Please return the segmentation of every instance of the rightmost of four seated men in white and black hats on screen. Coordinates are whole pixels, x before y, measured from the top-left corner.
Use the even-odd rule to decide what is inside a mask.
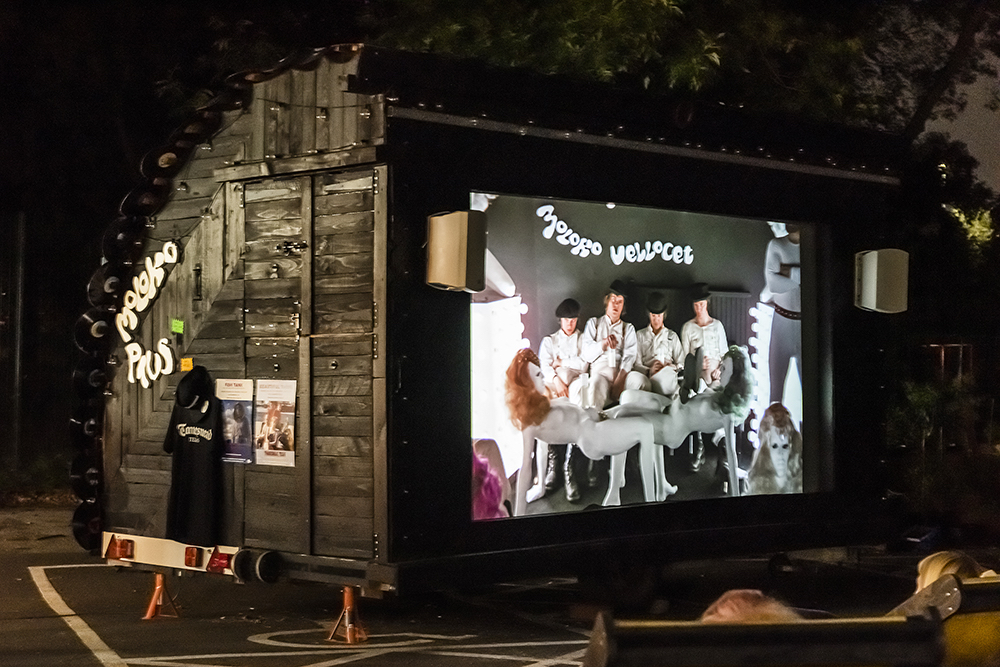
[[[684,383],[681,400],[686,401],[693,388],[698,393],[719,386],[722,357],[729,349],[726,328],[722,322],[708,312],[708,302],[712,294],[705,283],[697,283],[691,288],[691,308],[694,317],[681,327],[681,345],[684,348]],[[701,433],[691,435],[694,453],[691,471],[701,470],[705,462],[705,441]]]

